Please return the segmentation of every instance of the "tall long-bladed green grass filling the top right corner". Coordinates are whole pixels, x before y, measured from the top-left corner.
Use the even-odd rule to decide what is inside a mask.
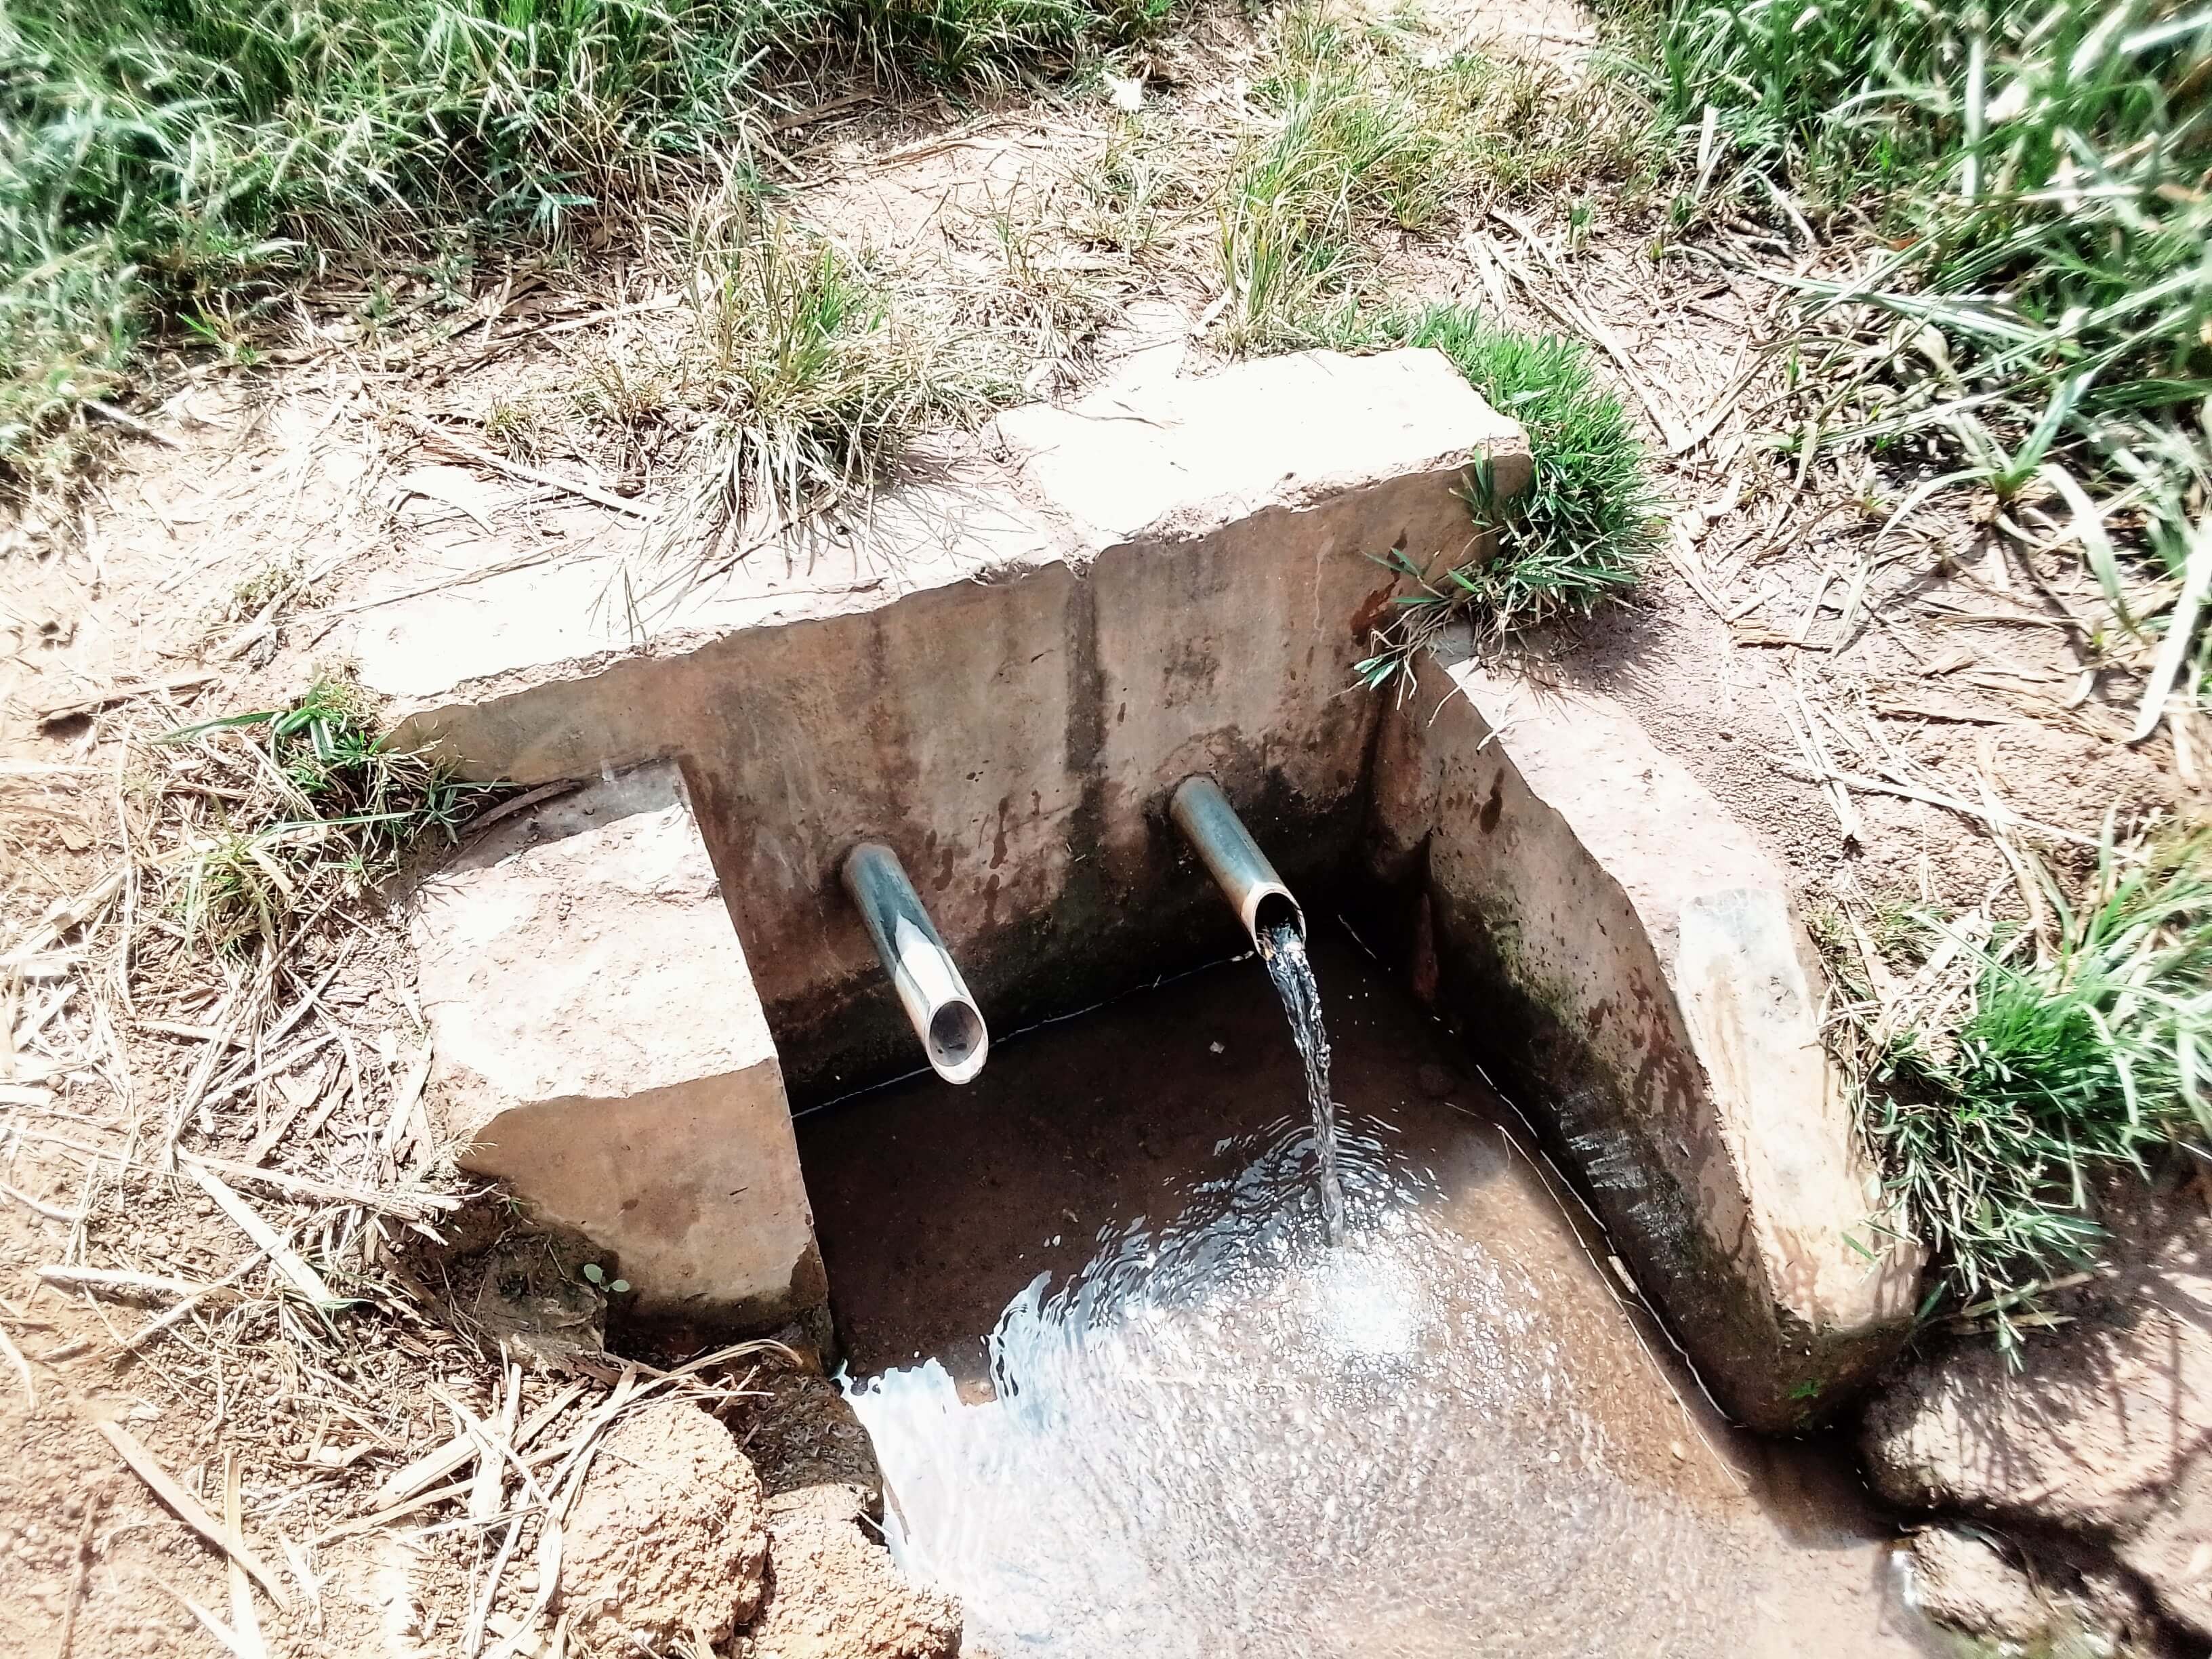
[[[2154,633],[2117,560],[2212,560],[2212,11],[1683,0],[1626,29],[1712,199],[1878,239],[1801,283],[1840,336],[1809,365],[1816,440],[1933,440],[1944,487],[2042,498]]]

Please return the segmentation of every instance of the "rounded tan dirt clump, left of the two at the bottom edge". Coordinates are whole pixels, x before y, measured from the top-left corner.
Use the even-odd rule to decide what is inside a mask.
[[[706,1411],[670,1400],[606,1436],[562,1540],[584,1652],[721,1644],[761,1606],[761,1480]]]

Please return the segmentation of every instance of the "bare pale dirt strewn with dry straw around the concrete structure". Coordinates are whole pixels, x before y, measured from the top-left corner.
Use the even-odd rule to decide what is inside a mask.
[[[1506,22],[1436,27],[1559,73],[1590,40],[1559,7]],[[1197,374],[1219,356],[1208,188],[1259,51],[1210,13],[1121,64],[1137,113],[1110,84],[834,93],[772,135],[770,173],[902,292],[1026,341],[1033,396]],[[1159,161],[1137,208],[1095,188],[1115,146]],[[2088,659],[2104,602],[2073,551],[1960,513],[1885,533],[1922,456],[1869,473],[1765,442],[1801,403],[1761,272],[1849,250],[1721,221],[1655,263],[1652,239],[1641,208],[1577,226],[1473,181],[1376,248],[1400,294],[1590,338],[1657,458],[1666,562],[1533,666],[1624,697],[1814,911],[2024,905],[2011,841],[2086,858],[2108,810],[2201,814],[2212,732],[2177,708],[2124,741],[2139,672]],[[633,372],[688,319],[650,237],[467,292],[411,276],[389,310],[316,292],[261,361],[173,365],[80,502],[0,515],[7,1652],[553,1652],[520,1469],[575,1471],[630,1400],[734,1380],[502,1363],[418,1254],[460,1186],[400,931],[365,905],[283,960],[195,958],[161,896],[166,803],[195,785],[146,748],[296,695],[378,602],[641,546],[690,416]]]

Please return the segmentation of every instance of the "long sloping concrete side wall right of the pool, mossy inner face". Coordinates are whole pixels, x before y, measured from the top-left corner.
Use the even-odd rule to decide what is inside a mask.
[[[1619,706],[1425,661],[1376,754],[1416,982],[1548,1119],[1745,1422],[1818,1422],[1905,1340],[1920,1256],[1820,1046],[1781,867]]]

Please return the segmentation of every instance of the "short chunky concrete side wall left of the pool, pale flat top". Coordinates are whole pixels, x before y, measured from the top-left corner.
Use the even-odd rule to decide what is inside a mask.
[[[675,768],[518,814],[409,931],[465,1170],[606,1250],[641,1316],[821,1305],[783,1071]]]

